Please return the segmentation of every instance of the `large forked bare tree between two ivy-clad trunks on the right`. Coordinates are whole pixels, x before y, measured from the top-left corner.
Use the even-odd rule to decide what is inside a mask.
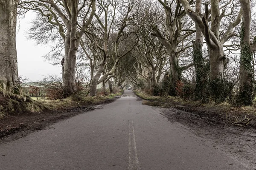
[[[226,32],[220,37],[221,19],[225,15],[224,8],[232,2],[231,0],[221,7],[219,5],[219,0],[211,0],[211,9],[209,10],[208,4],[206,3],[205,14],[203,16],[195,13],[187,0],[180,0],[180,2],[183,4],[186,13],[192,20],[194,20],[204,34],[210,59],[209,77],[211,94],[215,102],[222,102],[225,99],[224,91],[222,90],[224,86],[224,66],[228,61],[227,56],[224,53],[223,45],[230,39],[230,37],[234,36],[233,29],[241,22],[242,11],[240,9],[236,20],[230,22]],[[220,13],[220,9],[222,9],[222,13]],[[209,14],[211,14],[210,18]],[[231,10],[231,14],[233,14],[233,10]],[[208,26],[209,20],[211,21],[210,28]]]

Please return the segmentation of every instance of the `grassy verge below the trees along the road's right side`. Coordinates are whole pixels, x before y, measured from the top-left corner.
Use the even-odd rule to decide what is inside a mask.
[[[198,114],[217,114],[222,119],[224,118],[227,123],[239,126],[247,126],[250,124],[253,127],[256,127],[256,108],[253,106],[235,107],[227,102],[223,102],[218,105],[214,104],[213,102],[202,104],[200,101],[183,100],[180,97],[160,97],[151,96],[143,91],[134,92],[142,99],[152,102],[162,102],[169,107]]]

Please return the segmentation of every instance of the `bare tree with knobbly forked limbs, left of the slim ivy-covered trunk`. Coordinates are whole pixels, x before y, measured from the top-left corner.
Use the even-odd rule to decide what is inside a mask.
[[[179,53],[184,50],[179,50],[179,44],[183,42],[187,37],[193,34],[195,31],[191,28],[183,29],[184,17],[186,12],[181,9],[179,1],[168,1],[158,0],[158,2],[163,6],[166,13],[166,28],[168,31],[168,36],[165,38],[156,25],[152,26],[154,33],[151,35],[156,36],[166,47],[169,53],[169,62],[170,62],[170,75],[172,82],[171,94],[176,95],[175,86],[177,81],[181,79],[181,72],[183,68],[180,68],[178,63]],[[187,2],[188,3],[188,2]],[[192,3],[192,1],[190,2]],[[189,25],[189,23],[187,24]],[[188,47],[185,47],[188,48]]]

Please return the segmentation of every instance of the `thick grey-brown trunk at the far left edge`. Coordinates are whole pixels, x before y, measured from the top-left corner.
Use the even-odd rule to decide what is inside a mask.
[[[19,87],[16,19],[19,0],[0,0],[0,88]],[[18,91],[14,91],[18,93]]]

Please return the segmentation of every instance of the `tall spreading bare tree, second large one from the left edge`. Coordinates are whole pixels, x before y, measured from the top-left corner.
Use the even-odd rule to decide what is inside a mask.
[[[64,96],[70,96],[75,92],[76,52],[81,37],[95,14],[96,0],[90,0],[89,4],[87,0],[23,0],[20,6],[24,10],[37,11],[47,18],[47,24],[58,29],[58,34],[64,41],[65,55],[61,61]],[[51,29],[49,31],[51,36]],[[39,38],[41,34],[34,33],[35,37],[39,35]]]

